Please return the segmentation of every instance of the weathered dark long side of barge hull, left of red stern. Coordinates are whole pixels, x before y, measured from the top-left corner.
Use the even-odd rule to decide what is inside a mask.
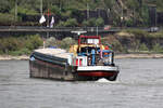
[[[74,80],[73,67],[60,66],[52,63],[35,59],[29,60],[30,78],[45,78],[54,80]],[[68,70],[67,70],[68,69]]]

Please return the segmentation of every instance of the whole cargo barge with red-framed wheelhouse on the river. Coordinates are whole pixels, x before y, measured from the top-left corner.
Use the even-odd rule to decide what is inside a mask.
[[[79,36],[78,44],[72,45],[68,52],[50,48],[35,50],[29,72],[32,78],[115,81],[118,67],[114,64],[114,52],[101,44],[100,36]]]

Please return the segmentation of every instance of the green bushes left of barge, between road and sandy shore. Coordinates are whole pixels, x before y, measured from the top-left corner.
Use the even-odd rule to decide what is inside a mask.
[[[42,40],[38,35],[1,38],[0,53],[12,55],[29,54],[40,45],[42,45]]]

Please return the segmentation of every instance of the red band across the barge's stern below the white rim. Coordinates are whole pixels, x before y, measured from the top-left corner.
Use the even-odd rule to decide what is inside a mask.
[[[84,77],[112,77],[115,72],[103,72],[103,71],[93,71],[93,72],[78,72],[78,76]]]

